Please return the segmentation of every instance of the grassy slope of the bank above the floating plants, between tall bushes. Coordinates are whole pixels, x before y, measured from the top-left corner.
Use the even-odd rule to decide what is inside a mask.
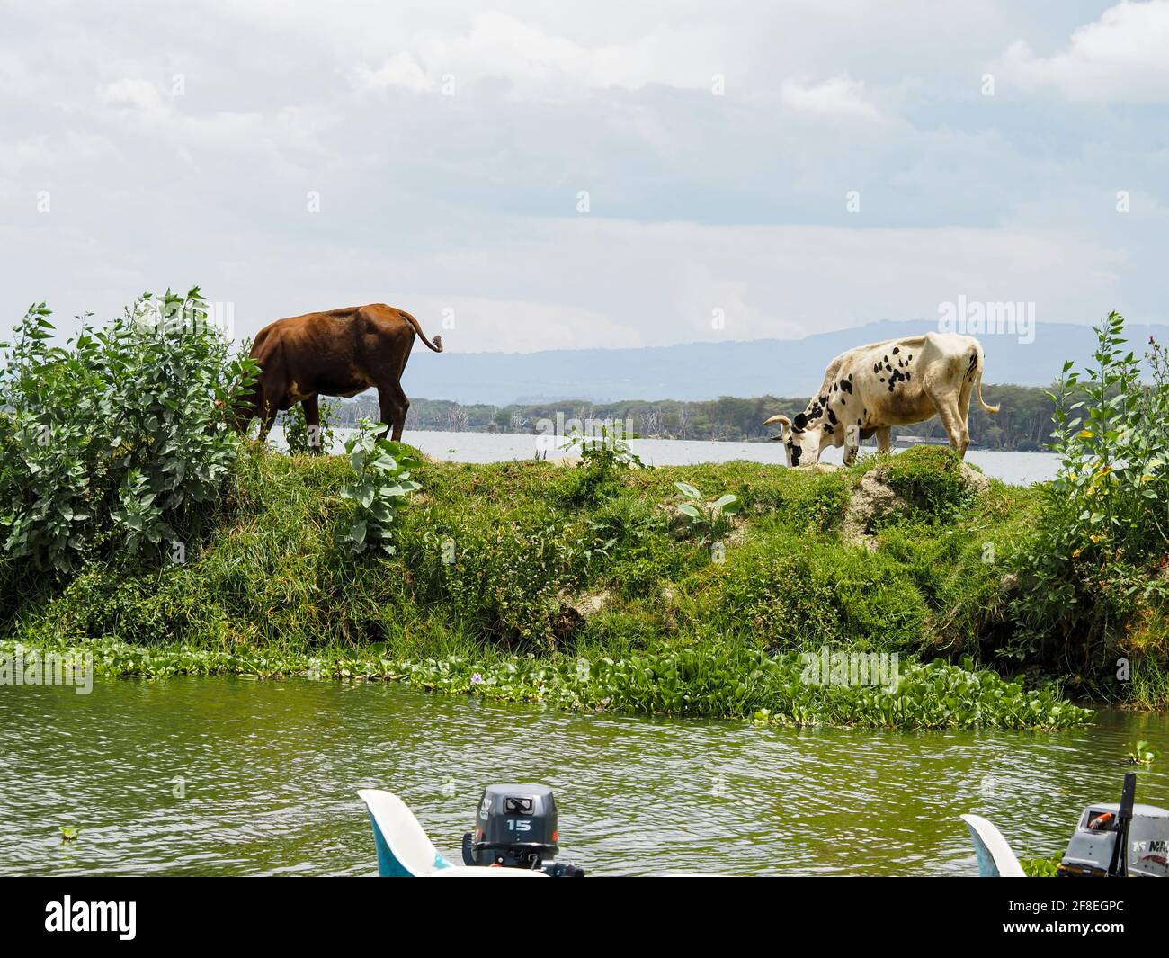
[[[394,656],[479,646],[613,655],[732,640],[773,652],[970,652],[1035,499],[991,483],[963,505],[949,460],[929,449],[894,459],[922,504],[876,530],[876,552],[841,542],[850,490],[872,466],[628,470],[601,494],[586,469],[424,463],[422,491],[396,521],[396,553],[372,557],[343,542],[353,521],[344,457],[249,450],[184,563],[117,553],[63,586],[26,574],[0,612],[8,634],[33,642],[290,652],[376,642]],[[708,499],[733,492],[739,515],[724,529],[696,526],[677,511],[677,481]]]

